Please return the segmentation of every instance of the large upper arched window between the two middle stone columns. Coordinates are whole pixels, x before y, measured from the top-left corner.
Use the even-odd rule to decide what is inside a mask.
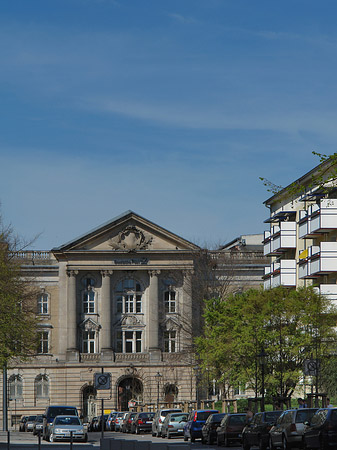
[[[117,313],[141,313],[142,294],[142,288],[138,281],[132,278],[120,281],[116,286]]]

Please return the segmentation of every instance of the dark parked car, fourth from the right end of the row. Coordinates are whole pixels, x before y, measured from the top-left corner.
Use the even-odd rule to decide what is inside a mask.
[[[226,414],[216,430],[217,445],[230,447],[233,442],[241,442],[246,420],[246,414]]]

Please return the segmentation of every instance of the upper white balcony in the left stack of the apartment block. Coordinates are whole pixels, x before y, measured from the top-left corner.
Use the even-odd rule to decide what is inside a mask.
[[[296,248],[296,222],[281,222],[264,234],[264,255],[278,255]]]

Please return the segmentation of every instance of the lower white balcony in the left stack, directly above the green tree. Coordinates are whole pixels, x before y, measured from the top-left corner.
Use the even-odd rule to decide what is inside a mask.
[[[265,289],[277,286],[296,286],[296,260],[282,259],[265,268]]]

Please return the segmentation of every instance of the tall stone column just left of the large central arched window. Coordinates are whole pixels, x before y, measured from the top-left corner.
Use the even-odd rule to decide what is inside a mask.
[[[103,360],[111,361],[113,358],[112,348],[111,348],[111,284],[110,276],[112,275],[112,270],[102,270],[102,301],[101,301],[101,311],[99,315],[101,318],[101,358]]]

